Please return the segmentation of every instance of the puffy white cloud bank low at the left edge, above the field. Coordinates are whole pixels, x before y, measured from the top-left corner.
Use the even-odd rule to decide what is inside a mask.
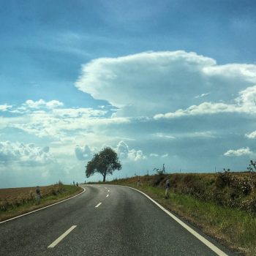
[[[19,162],[21,165],[45,165],[54,162],[50,154],[50,148],[40,148],[33,143],[0,142],[0,163],[2,165]]]

